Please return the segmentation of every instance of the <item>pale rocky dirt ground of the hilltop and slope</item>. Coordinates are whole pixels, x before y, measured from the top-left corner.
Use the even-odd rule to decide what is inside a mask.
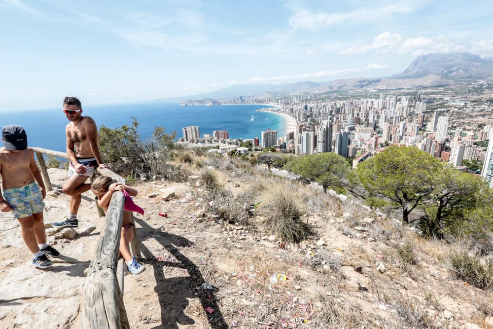
[[[248,175],[212,170],[235,193],[253,187]],[[63,172],[50,169],[50,176],[63,184]],[[317,196],[323,207],[306,216],[313,237],[285,244],[262,229],[259,216],[248,226],[221,221],[197,182],[137,185],[146,270],[125,276],[131,328],[493,326],[491,294],[457,280],[441,244],[382,214],[344,197]],[[175,196],[164,201],[170,192]],[[46,223],[68,212],[63,194],[52,192],[45,202]],[[89,193],[79,218],[75,232],[47,230],[63,256],[39,270],[29,264],[18,224],[0,214],[1,328],[80,328],[83,271],[104,221]],[[416,258],[405,262],[400,251],[408,245]]]

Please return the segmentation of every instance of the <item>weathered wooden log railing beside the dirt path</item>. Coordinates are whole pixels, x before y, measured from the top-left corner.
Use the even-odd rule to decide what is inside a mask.
[[[39,147],[33,147],[33,149],[36,152],[39,169],[46,189],[51,191],[53,190],[53,186],[48,176],[43,154],[68,159],[67,153]],[[125,183],[122,177],[109,169],[98,168],[97,172],[100,175],[109,176],[119,183]],[[91,177],[91,182],[92,180],[93,177]],[[97,200],[95,202],[100,217],[105,216]],[[130,328],[123,304],[123,281],[126,264],[123,258],[118,259],[124,205],[125,196],[123,193],[119,191],[114,192],[109,202],[106,225],[101,231],[95,258],[89,264],[87,272],[84,305],[82,307],[82,328]],[[133,218],[132,221],[134,221]],[[132,254],[140,259],[141,251],[139,249],[139,239],[135,226],[134,238],[130,244],[130,248]]]

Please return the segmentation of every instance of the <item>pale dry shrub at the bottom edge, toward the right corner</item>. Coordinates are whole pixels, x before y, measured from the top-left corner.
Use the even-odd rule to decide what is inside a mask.
[[[401,295],[395,301],[394,308],[404,325],[411,326],[415,329],[438,328],[435,325],[436,321],[426,314],[424,307],[416,300]]]

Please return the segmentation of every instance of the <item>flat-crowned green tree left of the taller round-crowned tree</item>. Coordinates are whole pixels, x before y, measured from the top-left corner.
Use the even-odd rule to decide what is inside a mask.
[[[284,169],[311,181],[316,181],[327,193],[328,187],[347,186],[351,167],[346,159],[335,153],[320,153],[289,160]]]

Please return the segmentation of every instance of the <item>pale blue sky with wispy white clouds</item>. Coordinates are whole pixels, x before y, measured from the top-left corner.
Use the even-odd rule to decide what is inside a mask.
[[[0,111],[402,72],[493,56],[493,1],[0,0]]]

